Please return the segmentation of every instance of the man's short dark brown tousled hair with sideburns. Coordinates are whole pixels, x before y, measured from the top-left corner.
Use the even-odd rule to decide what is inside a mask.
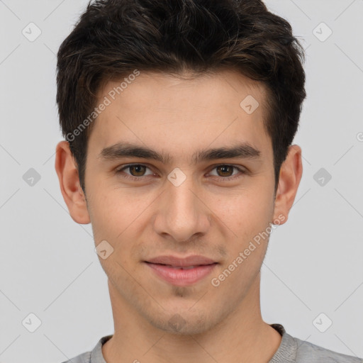
[[[135,69],[177,77],[185,69],[197,75],[229,68],[266,86],[264,127],[272,139],[276,191],[306,98],[304,57],[290,24],[260,0],[90,1],[57,53],[60,125],[82,189],[94,123],[69,135],[94,110],[101,86]]]

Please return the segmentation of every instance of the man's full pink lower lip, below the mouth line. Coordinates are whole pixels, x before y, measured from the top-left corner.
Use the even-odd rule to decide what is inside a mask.
[[[195,284],[210,274],[214,267],[216,267],[215,263],[196,266],[193,269],[174,269],[164,264],[152,264],[150,262],[145,263],[147,266],[152,268],[157,276],[161,277],[170,284],[177,286]]]

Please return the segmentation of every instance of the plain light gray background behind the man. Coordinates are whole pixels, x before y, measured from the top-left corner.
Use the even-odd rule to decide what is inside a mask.
[[[113,333],[91,225],[70,218],[54,169],[55,145],[62,140],[55,53],[85,5],[0,1],[3,363],[63,362]],[[303,149],[303,178],[288,223],[270,238],[262,317],[302,340],[363,357],[363,1],[267,6],[291,23],[306,48],[308,99],[295,140]],[[36,35],[30,22],[41,30],[33,41],[22,33]],[[333,33],[325,39],[329,28]],[[32,186],[30,168],[40,175]],[[323,174],[316,174],[320,168]],[[27,328],[22,324],[30,313],[41,320],[34,333],[27,329],[34,318]],[[325,330],[328,319],[333,325]]]

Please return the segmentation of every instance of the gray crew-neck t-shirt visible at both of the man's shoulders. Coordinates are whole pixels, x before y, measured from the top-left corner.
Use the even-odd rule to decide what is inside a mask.
[[[279,349],[269,363],[363,363],[363,359],[350,355],[333,352],[318,345],[291,337],[281,324],[270,324],[281,336]],[[101,347],[112,337],[101,337],[91,352],[77,355],[70,361],[63,363],[106,363]]]

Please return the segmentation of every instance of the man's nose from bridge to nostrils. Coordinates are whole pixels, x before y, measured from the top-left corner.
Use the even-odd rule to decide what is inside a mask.
[[[206,192],[192,177],[186,177],[179,186],[168,180],[155,213],[155,232],[175,242],[187,242],[197,235],[200,238],[208,232],[212,220]]]

